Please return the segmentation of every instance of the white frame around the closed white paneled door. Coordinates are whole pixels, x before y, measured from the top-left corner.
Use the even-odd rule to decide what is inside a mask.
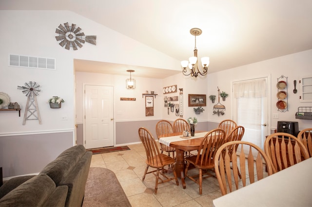
[[[82,123],[83,123],[83,146],[86,147],[86,130],[85,130],[85,126],[86,126],[86,93],[85,93],[85,86],[109,86],[109,85],[102,85],[102,84],[95,84],[95,83],[82,83]],[[114,93],[114,86],[113,87],[113,107],[114,107],[114,111],[113,111],[113,127],[114,127],[114,146],[116,146],[116,123],[115,123],[115,102],[114,102],[114,97],[115,97],[115,93]]]

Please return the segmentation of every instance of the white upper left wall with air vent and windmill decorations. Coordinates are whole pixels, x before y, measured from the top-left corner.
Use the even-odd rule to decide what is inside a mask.
[[[85,35],[97,35],[97,45],[85,43],[78,51],[68,51],[60,47],[59,42],[55,39],[55,36],[58,35],[55,30],[59,24],[65,22],[77,24],[77,27],[82,28]],[[74,59],[163,69],[174,69],[179,64],[177,60],[163,53],[69,11],[1,10],[0,25],[5,28],[0,39],[0,91],[7,93],[11,97],[11,101],[18,102],[22,109],[21,117],[12,112],[1,112],[0,135],[74,130]],[[55,58],[57,69],[8,67],[9,54]],[[121,79],[124,82],[125,78],[116,78],[115,83]],[[36,81],[41,86],[38,105],[42,124],[39,124],[39,121],[26,121],[26,124],[22,125],[27,97],[17,89],[17,86],[23,86],[25,82],[29,81]],[[147,82],[155,85],[156,81]],[[141,83],[138,80],[138,84]],[[157,84],[156,87],[158,87]],[[141,88],[145,90],[145,86]],[[150,88],[152,89],[153,86]],[[126,96],[126,94],[120,95]],[[59,96],[65,100],[61,109],[49,108],[47,100],[52,96]],[[61,121],[63,115],[67,116],[67,121]],[[119,119],[129,119],[130,117],[132,114],[128,114],[126,118],[121,116]]]

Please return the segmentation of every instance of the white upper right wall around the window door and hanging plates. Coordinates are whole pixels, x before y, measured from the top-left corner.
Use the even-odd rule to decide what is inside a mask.
[[[299,86],[297,85],[298,92],[294,94],[293,80],[299,81],[300,77],[305,75],[312,75],[312,50],[298,52],[282,57],[273,58],[233,69],[228,69],[208,75],[208,96],[211,94],[217,95],[217,88],[224,90],[229,94],[224,104],[226,106],[226,113],[224,116],[212,115],[208,113],[209,121],[219,122],[223,119],[231,118],[231,81],[253,78],[262,75],[271,75],[271,83],[269,90],[271,89],[271,127],[276,129],[277,121],[298,121],[299,129],[311,128],[312,120],[295,119],[295,113],[299,106],[312,106],[312,103],[301,103],[299,100]],[[277,111],[277,78],[281,75],[288,77],[288,110],[287,112]],[[311,76],[310,76],[311,77]],[[211,104],[209,109],[213,111],[213,105]],[[273,119],[272,114],[278,113],[279,119]]]

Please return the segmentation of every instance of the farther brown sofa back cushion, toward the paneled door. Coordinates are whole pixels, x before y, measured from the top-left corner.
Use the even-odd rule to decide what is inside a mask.
[[[79,159],[85,154],[86,149],[83,145],[76,145],[62,152],[54,161],[45,166],[41,173],[47,174],[57,186],[64,177],[68,176],[78,163]]]

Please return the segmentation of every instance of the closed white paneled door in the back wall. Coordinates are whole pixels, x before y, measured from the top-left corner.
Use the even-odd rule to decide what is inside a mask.
[[[113,86],[85,85],[85,147],[114,146]]]

